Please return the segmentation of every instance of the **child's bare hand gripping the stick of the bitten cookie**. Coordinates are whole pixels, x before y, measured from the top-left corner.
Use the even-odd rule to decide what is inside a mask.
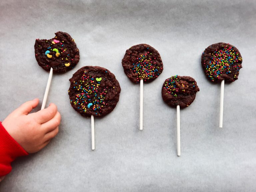
[[[44,148],[59,131],[61,116],[56,105],[50,104],[46,109],[29,114],[38,102],[34,99],[22,104],[2,122],[6,131],[28,153]]]

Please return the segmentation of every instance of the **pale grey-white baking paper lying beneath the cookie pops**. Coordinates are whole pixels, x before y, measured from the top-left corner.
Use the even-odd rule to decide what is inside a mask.
[[[53,74],[48,95],[62,115],[59,134],[38,153],[17,159],[1,192],[256,190],[256,2],[239,1],[21,1],[0,2],[0,119],[23,102],[44,95],[48,72],[34,56],[36,38],[69,33],[80,50],[77,66]],[[219,128],[220,84],[201,67],[213,43],[236,46],[239,78],[225,84]],[[163,73],[144,84],[139,130],[139,84],[123,72],[126,49],[147,43],[162,57]],[[69,78],[86,65],[115,74],[120,100],[109,115],[91,121],[70,105]],[[176,109],[161,97],[164,80],[191,76],[200,88],[181,110],[181,156],[176,155]],[[36,108],[37,111],[40,106]]]

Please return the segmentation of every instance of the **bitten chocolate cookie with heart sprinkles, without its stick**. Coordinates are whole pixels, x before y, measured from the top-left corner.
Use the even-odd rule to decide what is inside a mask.
[[[35,56],[44,70],[65,72],[73,69],[79,61],[79,50],[72,37],[64,32],[55,33],[52,39],[36,39]]]

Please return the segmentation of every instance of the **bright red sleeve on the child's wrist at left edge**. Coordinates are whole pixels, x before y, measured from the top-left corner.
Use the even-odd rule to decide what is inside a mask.
[[[11,162],[28,153],[5,130],[0,122],[0,177],[11,172]]]

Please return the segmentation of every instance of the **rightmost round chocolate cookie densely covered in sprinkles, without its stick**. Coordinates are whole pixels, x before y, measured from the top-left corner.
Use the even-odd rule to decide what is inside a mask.
[[[216,43],[207,47],[201,59],[206,76],[212,82],[233,82],[242,68],[242,56],[238,49],[227,43]]]

